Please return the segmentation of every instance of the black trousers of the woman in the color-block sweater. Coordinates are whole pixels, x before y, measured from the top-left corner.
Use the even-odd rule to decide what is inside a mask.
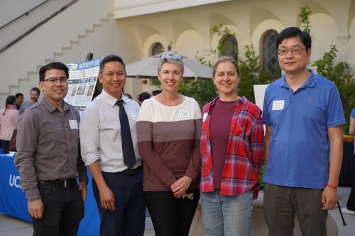
[[[153,222],[155,236],[187,236],[200,199],[198,189],[193,200],[175,198],[171,191],[147,191],[144,193],[147,208]]]

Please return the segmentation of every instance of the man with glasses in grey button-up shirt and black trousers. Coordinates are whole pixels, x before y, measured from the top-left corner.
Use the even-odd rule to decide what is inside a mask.
[[[47,64],[40,68],[39,77],[44,97],[18,121],[15,164],[28,199],[33,235],[74,236],[87,195],[80,116],[63,101],[69,77],[65,64]]]

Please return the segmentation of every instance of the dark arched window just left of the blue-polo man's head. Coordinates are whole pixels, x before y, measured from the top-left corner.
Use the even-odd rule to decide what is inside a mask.
[[[281,76],[281,69],[278,64],[278,49],[275,46],[278,33],[275,30],[268,30],[262,41],[262,60],[263,69],[266,69],[275,77]]]

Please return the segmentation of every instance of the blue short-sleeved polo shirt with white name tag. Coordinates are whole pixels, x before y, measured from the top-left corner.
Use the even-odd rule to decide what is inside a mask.
[[[263,122],[273,128],[263,181],[323,189],[329,172],[327,129],[345,123],[337,86],[310,70],[305,84],[292,91],[282,77],[266,88]]]

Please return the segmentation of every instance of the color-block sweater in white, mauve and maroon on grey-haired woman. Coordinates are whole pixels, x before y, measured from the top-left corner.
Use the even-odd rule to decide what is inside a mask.
[[[143,159],[143,191],[170,191],[182,176],[190,189],[200,184],[202,115],[195,99],[164,106],[155,97],[143,101],[137,120],[138,150]]]

